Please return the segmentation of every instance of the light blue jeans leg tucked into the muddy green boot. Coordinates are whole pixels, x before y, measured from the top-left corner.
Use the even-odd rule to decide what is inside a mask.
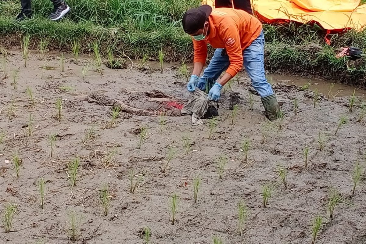
[[[272,86],[264,73],[264,35],[262,33],[243,52],[244,67],[252,86],[261,97],[273,94]]]

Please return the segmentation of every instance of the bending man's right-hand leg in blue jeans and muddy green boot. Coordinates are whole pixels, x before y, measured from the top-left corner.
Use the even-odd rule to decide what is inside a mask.
[[[280,106],[272,86],[268,83],[264,72],[264,34],[255,39],[243,52],[244,67],[251,79],[253,88],[261,96],[268,119],[275,120],[280,116]]]

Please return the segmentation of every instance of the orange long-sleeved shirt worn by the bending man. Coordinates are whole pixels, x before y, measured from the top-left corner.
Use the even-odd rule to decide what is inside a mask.
[[[209,23],[210,33],[205,40],[193,40],[193,62],[206,63],[208,43],[213,48],[226,48],[230,60],[226,72],[234,77],[243,67],[243,50],[261,34],[262,24],[253,15],[233,8],[216,8]]]

